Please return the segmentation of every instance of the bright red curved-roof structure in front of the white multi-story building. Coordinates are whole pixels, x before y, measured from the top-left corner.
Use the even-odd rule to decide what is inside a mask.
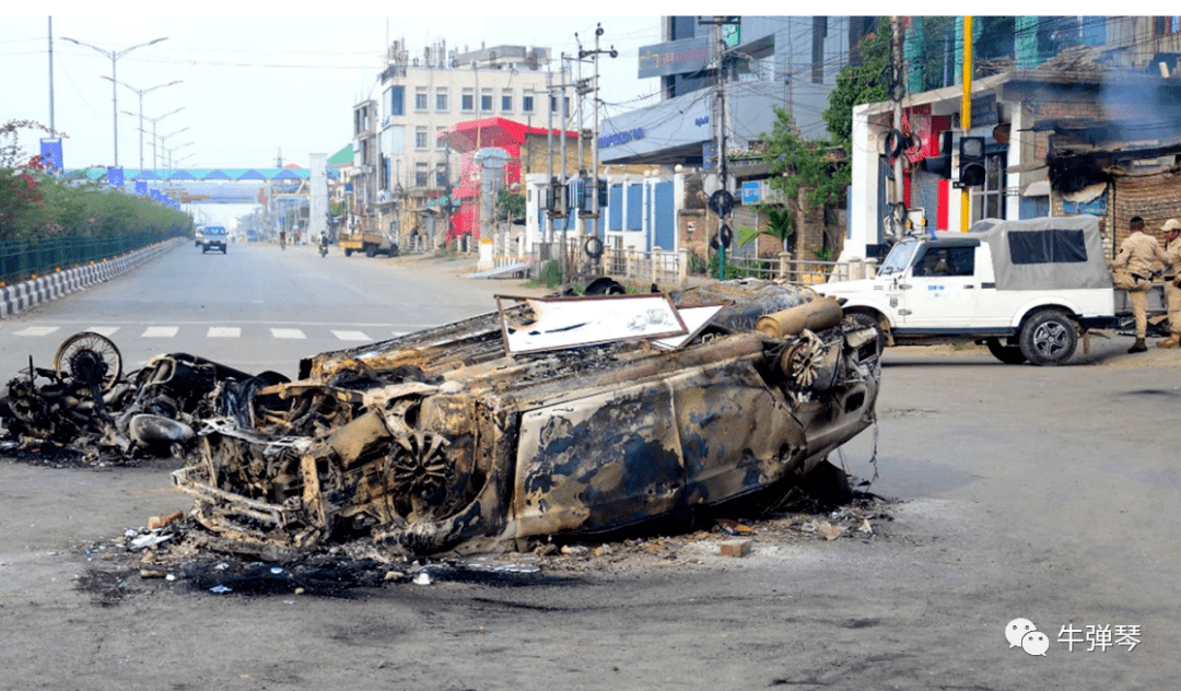
[[[529,136],[549,136],[546,128],[530,128],[524,123],[507,118],[482,118],[456,123],[438,136],[445,137],[448,145],[461,154],[459,187],[452,196],[459,201],[459,210],[451,216],[451,237],[471,234],[472,240],[479,240],[479,164],[476,152],[481,149],[503,149],[509,156],[504,167],[504,184],[511,187],[521,182],[521,145]],[[555,137],[561,137],[561,130],[553,130]],[[568,139],[576,139],[578,132],[567,130]]]

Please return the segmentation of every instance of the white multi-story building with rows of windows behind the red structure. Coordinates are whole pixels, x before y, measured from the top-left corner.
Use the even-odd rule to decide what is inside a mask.
[[[461,52],[448,50],[445,41],[411,57],[404,41],[393,41],[377,100],[353,109],[354,189],[358,201],[364,200],[364,222],[403,236],[418,229],[423,236],[443,237],[439,204],[428,202],[458,187],[461,165],[441,133],[489,117],[546,126],[549,61],[549,48]]]

